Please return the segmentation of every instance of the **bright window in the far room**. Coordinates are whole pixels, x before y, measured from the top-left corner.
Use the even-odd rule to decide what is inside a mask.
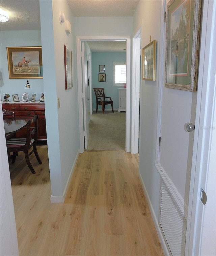
[[[113,85],[126,83],[126,63],[113,63]]]

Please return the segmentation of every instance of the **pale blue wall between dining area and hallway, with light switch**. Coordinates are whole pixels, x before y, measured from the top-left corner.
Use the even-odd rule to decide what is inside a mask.
[[[65,32],[65,24],[60,24],[60,11],[71,23],[71,35]],[[51,199],[61,201],[79,151],[74,21],[66,1],[40,1],[40,12]],[[64,44],[73,56],[73,88],[70,90],[65,90]],[[60,108],[57,98],[60,98]]]

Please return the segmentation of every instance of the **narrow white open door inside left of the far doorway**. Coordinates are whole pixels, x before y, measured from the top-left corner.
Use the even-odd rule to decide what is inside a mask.
[[[90,111],[88,109],[89,103],[88,103],[88,95],[90,95],[89,92],[89,86],[88,86],[88,78],[87,78],[87,55],[84,47],[84,42],[82,41],[82,101],[83,101],[83,131],[84,131],[84,147],[85,149],[88,148],[88,138],[89,138],[89,115]]]

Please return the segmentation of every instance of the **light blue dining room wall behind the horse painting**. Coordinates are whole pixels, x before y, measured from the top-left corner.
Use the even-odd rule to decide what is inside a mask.
[[[0,44],[0,61],[1,61],[1,80],[0,91],[1,100],[3,101],[5,93],[10,94],[9,101],[13,101],[12,94],[18,94],[20,101],[22,94],[27,92],[31,99],[32,93],[36,93],[36,100],[41,98],[41,93],[44,92],[43,79],[30,78],[28,79],[30,88],[26,88],[27,79],[9,79],[8,61],[7,61],[7,46],[41,46],[41,31],[38,30],[23,30],[23,31],[1,31]],[[46,96],[46,95],[45,95]]]

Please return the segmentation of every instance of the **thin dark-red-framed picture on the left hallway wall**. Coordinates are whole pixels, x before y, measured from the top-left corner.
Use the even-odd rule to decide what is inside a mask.
[[[73,88],[72,51],[64,45],[65,90]]]

